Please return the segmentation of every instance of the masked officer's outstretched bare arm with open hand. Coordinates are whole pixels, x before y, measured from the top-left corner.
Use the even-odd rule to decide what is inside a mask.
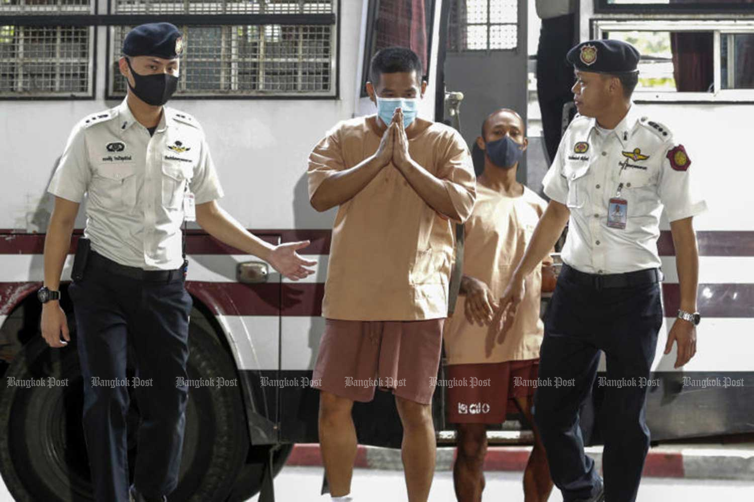
[[[196,207],[196,219],[201,228],[212,237],[228,246],[241,249],[244,253],[259,256],[269,262],[277,271],[291,280],[299,280],[314,274],[305,266],[317,265],[317,262],[302,259],[296,251],[309,245],[308,240],[295,243],[283,243],[273,246],[256,235],[247,231],[241,223],[236,221],[212,200]]]

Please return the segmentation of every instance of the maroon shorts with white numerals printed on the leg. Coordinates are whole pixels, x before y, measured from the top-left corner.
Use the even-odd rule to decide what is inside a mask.
[[[452,364],[447,367],[448,421],[452,424],[501,424],[507,405],[532,396],[539,360]],[[512,410],[517,410],[515,404]]]

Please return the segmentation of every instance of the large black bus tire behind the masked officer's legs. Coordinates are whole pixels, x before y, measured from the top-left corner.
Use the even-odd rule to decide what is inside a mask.
[[[193,314],[198,314],[194,312]],[[69,314],[69,319],[72,319]],[[17,502],[91,502],[89,460],[81,428],[81,369],[72,341],[50,349],[33,338],[0,384],[0,472]],[[237,378],[230,357],[212,335],[189,326],[189,378]],[[131,360],[131,358],[129,358]],[[133,376],[129,364],[128,375]],[[8,385],[8,377],[68,379],[66,387]],[[222,502],[247,458],[249,435],[237,386],[189,387],[179,483],[171,502]],[[129,387],[129,393],[131,393]],[[129,472],[136,458],[138,405],[128,412]]]

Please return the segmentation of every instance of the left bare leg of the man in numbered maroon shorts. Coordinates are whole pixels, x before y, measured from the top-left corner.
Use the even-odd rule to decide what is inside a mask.
[[[485,424],[458,424],[458,455],[453,466],[453,485],[458,502],[482,500],[486,454]]]

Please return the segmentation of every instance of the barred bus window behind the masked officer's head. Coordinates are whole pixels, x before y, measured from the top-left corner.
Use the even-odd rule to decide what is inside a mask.
[[[332,14],[330,0],[146,2],[118,0],[125,11],[183,14]],[[122,96],[120,47],[130,26],[111,28],[110,95]],[[335,96],[336,26],[181,26],[185,41],[176,96]]]

